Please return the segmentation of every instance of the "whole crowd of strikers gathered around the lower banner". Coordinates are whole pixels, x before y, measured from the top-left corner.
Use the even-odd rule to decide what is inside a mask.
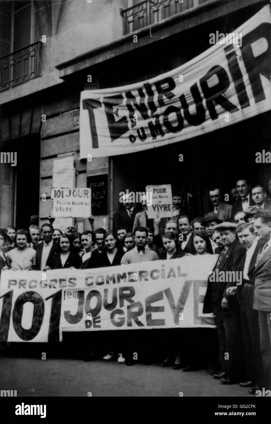
[[[271,389],[271,198],[261,185],[250,188],[245,178],[236,181],[232,205],[222,200],[219,187],[211,187],[209,195],[212,208],[203,217],[191,216],[176,194],[172,216],[155,219],[148,218],[144,199],[137,211],[124,197],[122,210],[115,214],[114,232],[95,229],[94,217],[89,218],[92,230],[82,234],[74,226],[63,234],[53,227],[51,217],[41,228],[8,226],[0,230],[0,269],[87,269],[217,254],[213,271],[241,271],[242,285],[209,277],[203,313],[215,315],[216,336],[213,330],[179,329],[176,340],[176,329],[161,330],[166,332],[167,349],[162,366],[183,371],[208,366],[222,384],[239,383],[251,394],[258,388]],[[112,349],[103,359],[118,356],[119,363],[133,365],[129,340],[134,335],[128,335],[123,346],[121,332],[111,333],[107,346]],[[96,333],[93,340],[99,337]],[[148,338],[142,335],[145,351],[152,341],[149,332]],[[200,343],[206,346],[204,360],[196,354],[202,351]],[[153,360],[151,350],[146,364]],[[97,358],[97,351],[88,352],[86,360]]]

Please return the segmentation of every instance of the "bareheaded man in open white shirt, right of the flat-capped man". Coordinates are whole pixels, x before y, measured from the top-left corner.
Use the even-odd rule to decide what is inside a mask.
[[[246,381],[241,387],[252,387],[250,394],[255,394],[259,387],[263,387],[263,365],[260,354],[260,329],[258,312],[253,310],[254,302],[254,271],[259,250],[264,241],[256,240],[254,227],[250,223],[241,223],[236,232],[240,243],[246,248],[240,263],[243,273],[241,286],[229,287],[227,294],[237,296],[240,301],[241,329],[243,336]],[[237,293],[237,295],[236,295]]]

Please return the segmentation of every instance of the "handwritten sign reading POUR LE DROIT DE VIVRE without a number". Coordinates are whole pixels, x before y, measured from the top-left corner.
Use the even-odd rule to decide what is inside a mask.
[[[150,185],[146,187],[146,192],[152,192],[152,205],[148,205],[148,218],[170,218],[172,212],[171,185]]]

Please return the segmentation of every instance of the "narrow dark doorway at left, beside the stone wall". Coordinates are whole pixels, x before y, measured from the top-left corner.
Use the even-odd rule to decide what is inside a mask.
[[[31,215],[39,215],[40,137],[24,137],[14,142],[16,166],[16,228],[29,227]]]

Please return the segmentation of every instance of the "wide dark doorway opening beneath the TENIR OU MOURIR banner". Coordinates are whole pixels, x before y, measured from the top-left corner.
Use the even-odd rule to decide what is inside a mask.
[[[192,195],[194,216],[210,210],[209,188],[218,185],[229,194],[236,179],[244,176],[250,184],[263,184],[271,176],[270,164],[257,164],[257,151],[270,151],[271,112],[265,112],[223,130],[113,158],[114,212],[121,207],[119,192],[142,192],[148,184],[171,184],[173,193]],[[183,154],[183,162],[179,155]],[[229,201],[231,203],[231,201]],[[136,205],[141,209],[141,205]]]

